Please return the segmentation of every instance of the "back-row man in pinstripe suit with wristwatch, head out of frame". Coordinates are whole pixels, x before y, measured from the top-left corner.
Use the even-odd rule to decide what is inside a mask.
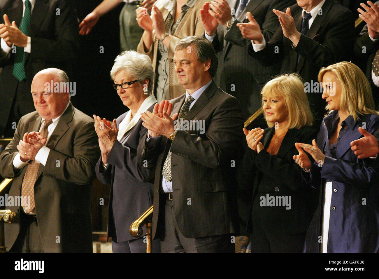
[[[262,65],[249,55],[250,40],[243,38],[237,24],[249,22],[250,12],[262,26],[262,34],[269,41],[279,27],[272,10],[282,10],[295,0],[215,0],[205,3],[200,12],[204,36],[212,42],[219,61],[216,84],[240,102],[246,120],[262,106],[260,91],[265,83],[279,74],[280,61]],[[263,121],[265,122],[265,121]],[[266,124],[266,123],[263,123]]]

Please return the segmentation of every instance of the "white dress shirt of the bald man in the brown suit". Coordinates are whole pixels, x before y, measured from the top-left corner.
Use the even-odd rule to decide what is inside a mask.
[[[67,106],[66,106],[66,109],[67,107],[69,106],[70,102],[68,102]],[[61,115],[66,111],[66,109],[63,110],[63,112],[61,113]],[[49,157],[49,153],[50,153],[50,148],[46,146],[46,144],[49,142],[49,139],[51,137],[51,135],[53,134],[53,131],[56,127],[56,125],[58,124],[58,121],[59,119],[61,118],[61,115],[56,117],[55,119],[52,119],[53,120],[53,123],[51,123],[49,126],[47,126],[47,140],[46,140],[46,143],[44,146],[41,147],[40,150],[38,150],[37,154],[36,154],[36,157],[34,158],[34,160],[37,162],[37,163],[41,163],[42,165],[46,165],[46,161],[47,161],[47,158]],[[45,123],[45,120],[42,118],[41,120],[41,127],[39,128],[39,132],[42,132],[42,128],[44,127],[44,123]],[[32,131],[30,131],[32,132]],[[20,135],[21,137],[23,137],[23,135]],[[25,167],[26,165],[28,164],[28,162],[23,162],[21,161],[20,159],[20,153],[17,152],[16,156],[14,156],[13,158],[13,166],[16,168],[16,169],[22,169],[23,167]]]

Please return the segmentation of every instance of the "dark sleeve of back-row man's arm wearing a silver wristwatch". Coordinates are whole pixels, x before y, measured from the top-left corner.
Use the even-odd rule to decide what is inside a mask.
[[[274,14],[273,9],[277,9],[281,11],[284,8],[293,5],[292,0],[275,0],[272,1],[271,5],[267,8],[266,17],[263,21],[261,28],[262,35],[265,37],[266,42],[270,41],[270,39],[274,36],[277,28],[279,27],[279,20],[276,14]],[[245,19],[243,22],[249,22],[248,19]],[[245,39],[241,35],[240,28],[237,26],[238,23],[241,23],[239,20],[235,20],[233,26],[225,35],[225,40],[236,44],[237,46],[248,48],[251,45],[251,40]]]

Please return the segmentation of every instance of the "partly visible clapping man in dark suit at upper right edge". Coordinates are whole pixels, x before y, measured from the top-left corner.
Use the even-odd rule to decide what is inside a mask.
[[[371,3],[371,4],[370,4]],[[366,22],[354,43],[353,62],[366,73],[373,90],[375,108],[379,102],[379,1],[362,3],[359,17]],[[376,4],[376,5],[375,5]]]

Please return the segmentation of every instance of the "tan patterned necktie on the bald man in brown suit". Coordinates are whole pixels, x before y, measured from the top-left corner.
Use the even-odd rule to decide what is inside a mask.
[[[45,120],[44,127],[41,131],[41,136],[47,138],[47,126],[53,123],[52,120]],[[24,208],[26,213],[30,213],[36,208],[34,202],[34,184],[36,183],[39,163],[33,161],[27,168],[25,176],[22,181],[21,196],[24,201],[27,201],[27,197],[30,197],[29,208]],[[24,203],[25,204],[25,203]]]

